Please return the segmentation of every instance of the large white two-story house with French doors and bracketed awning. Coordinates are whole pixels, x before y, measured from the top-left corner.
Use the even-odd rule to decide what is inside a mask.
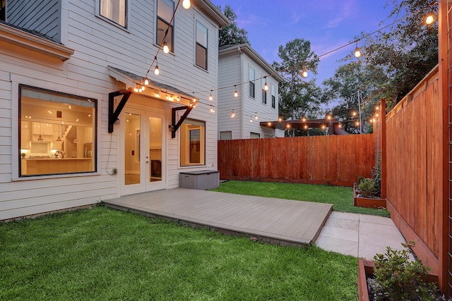
[[[216,170],[217,97],[193,93],[218,87],[230,21],[210,1],[0,3],[0,220]]]

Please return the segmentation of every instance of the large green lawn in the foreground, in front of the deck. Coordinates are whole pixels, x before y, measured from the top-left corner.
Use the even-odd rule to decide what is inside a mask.
[[[0,223],[0,300],[356,300],[357,258],[97,206]]]

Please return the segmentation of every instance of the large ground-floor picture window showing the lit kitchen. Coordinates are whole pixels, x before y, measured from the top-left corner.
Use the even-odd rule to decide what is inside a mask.
[[[19,86],[20,176],[95,171],[95,99]]]

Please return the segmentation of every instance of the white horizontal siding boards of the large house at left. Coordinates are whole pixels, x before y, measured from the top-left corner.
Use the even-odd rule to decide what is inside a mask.
[[[153,61],[157,47],[155,34],[155,1],[129,0],[128,28],[124,29],[96,16],[96,1],[66,0],[64,11],[67,27],[61,35],[67,37],[66,47],[75,53],[66,62],[38,54],[25,48],[2,42],[0,45],[0,220],[39,214],[93,204],[102,199],[118,197],[119,176],[109,175],[119,167],[118,127],[114,133],[108,128],[108,93],[124,89],[122,82],[109,76],[107,66],[145,75]],[[208,27],[208,70],[194,66],[195,20]],[[208,100],[210,90],[218,87],[218,25],[203,13],[191,8],[177,10],[174,20],[174,54],[158,55],[160,75],[148,78],[196,94],[200,104],[189,118],[206,121],[206,164],[181,168],[179,166],[179,131],[166,137],[166,188],[179,186],[179,171],[217,168],[217,116],[210,113],[210,104],[218,107],[217,95]],[[37,180],[14,179],[18,168],[18,84],[42,87],[57,92],[97,99],[97,174],[83,176],[54,176]],[[154,107],[165,111],[165,129],[171,123],[171,108],[176,105],[149,97],[132,96],[130,104]],[[17,173],[17,172],[16,172]]]

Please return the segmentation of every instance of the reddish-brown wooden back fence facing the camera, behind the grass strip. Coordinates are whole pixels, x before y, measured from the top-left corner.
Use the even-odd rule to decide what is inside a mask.
[[[218,141],[221,179],[352,186],[374,164],[373,134]]]

